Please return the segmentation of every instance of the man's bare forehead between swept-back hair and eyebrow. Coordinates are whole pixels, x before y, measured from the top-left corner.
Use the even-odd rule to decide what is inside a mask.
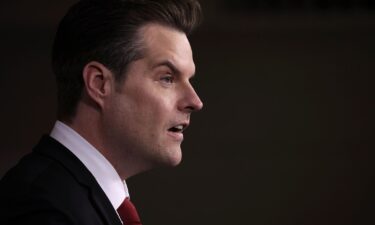
[[[193,53],[185,33],[159,24],[147,24],[139,32],[145,46],[144,59],[150,66],[165,61],[194,74]]]

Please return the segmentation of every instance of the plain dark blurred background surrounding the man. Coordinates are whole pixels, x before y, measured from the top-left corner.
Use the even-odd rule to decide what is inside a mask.
[[[73,0],[0,2],[0,177],[51,129],[50,51]],[[371,0],[205,0],[176,168],[131,178],[143,223],[375,224]]]

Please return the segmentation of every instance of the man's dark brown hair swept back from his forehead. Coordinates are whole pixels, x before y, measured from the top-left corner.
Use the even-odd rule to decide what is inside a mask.
[[[196,0],[81,0],[73,5],[59,24],[52,52],[59,119],[74,116],[88,62],[101,62],[119,81],[129,63],[142,57],[137,33],[142,26],[159,23],[189,35],[200,19]]]

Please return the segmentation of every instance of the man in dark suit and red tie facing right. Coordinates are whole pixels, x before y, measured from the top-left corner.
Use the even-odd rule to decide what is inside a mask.
[[[53,46],[58,120],[0,183],[0,224],[140,224],[125,180],[181,160],[202,102],[195,0],[81,0]]]

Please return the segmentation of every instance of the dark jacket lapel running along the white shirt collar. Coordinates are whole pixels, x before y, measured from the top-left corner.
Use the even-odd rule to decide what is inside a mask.
[[[53,158],[74,176],[79,184],[88,188],[94,207],[104,221],[110,225],[121,225],[121,221],[108,197],[85,165],[65,146],[50,136],[43,136],[34,148],[35,152]]]

